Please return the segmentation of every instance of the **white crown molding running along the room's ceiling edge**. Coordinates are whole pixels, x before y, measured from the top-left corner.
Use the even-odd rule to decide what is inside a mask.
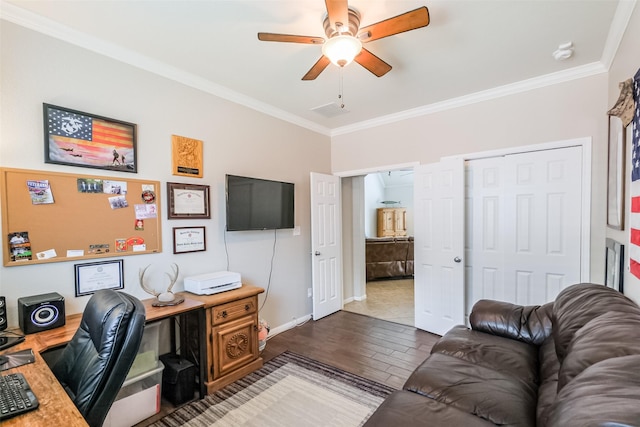
[[[571,80],[581,79],[601,73],[606,73],[613,62],[615,54],[624,36],[631,14],[636,6],[637,0],[620,0],[612,25],[607,36],[603,55],[600,61],[586,64],[580,67],[571,68],[556,73],[547,74],[540,77],[523,80],[520,82],[499,86],[458,98],[452,98],[442,102],[437,102],[410,110],[401,111],[386,116],[381,116],[371,120],[365,120],[353,125],[343,126],[336,129],[329,129],[318,125],[310,120],[291,114],[279,108],[275,108],[265,102],[248,97],[239,92],[233,91],[222,85],[213,83],[202,77],[187,73],[176,67],[169,66],[163,62],[154,60],[144,55],[140,55],[129,49],[122,48],[112,43],[105,42],[96,37],[75,31],[61,25],[55,21],[43,18],[37,14],[16,7],[12,4],[0,0],[0,19],[13,22],[22,27],[46,34],[48,36],[63,40],[67,43],[83,47],[90,51],[105,55],[117,61],[132,65],[145,71],[160,75],[167,79],[182,83],[194,89],[218,96],[228,101],[243,105],[247,108],[259,111],[280,120],[309,129],[311,131],[334,137],[360,130],[370,129],[402,120],[434,114],[442,111],[460,108],[467,105],[476,104],[492,99],[497,99],[509,95],[527,92]]]

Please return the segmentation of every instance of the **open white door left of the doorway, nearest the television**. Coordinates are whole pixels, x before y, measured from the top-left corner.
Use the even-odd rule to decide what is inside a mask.
[[[340,178],[311,173],[313,319],[342,309]]]

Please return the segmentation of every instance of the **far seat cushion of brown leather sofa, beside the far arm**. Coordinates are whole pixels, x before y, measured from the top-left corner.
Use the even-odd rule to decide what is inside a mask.
[[[509,372],[534,386],[538,382],[538,347],[455,326],[432,347],[442,353],[487,368]]]

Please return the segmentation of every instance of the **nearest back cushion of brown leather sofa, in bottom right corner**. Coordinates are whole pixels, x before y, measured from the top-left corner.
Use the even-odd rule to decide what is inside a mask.
[[[550,408],[548,426],[640,425],[640,355],[591,365],[565,385]]]

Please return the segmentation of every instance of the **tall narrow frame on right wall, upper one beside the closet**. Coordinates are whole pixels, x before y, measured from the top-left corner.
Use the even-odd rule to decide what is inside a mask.
[[[616,230],[624,228],[625,135],[622,120],[609,116],[607,225]]]

